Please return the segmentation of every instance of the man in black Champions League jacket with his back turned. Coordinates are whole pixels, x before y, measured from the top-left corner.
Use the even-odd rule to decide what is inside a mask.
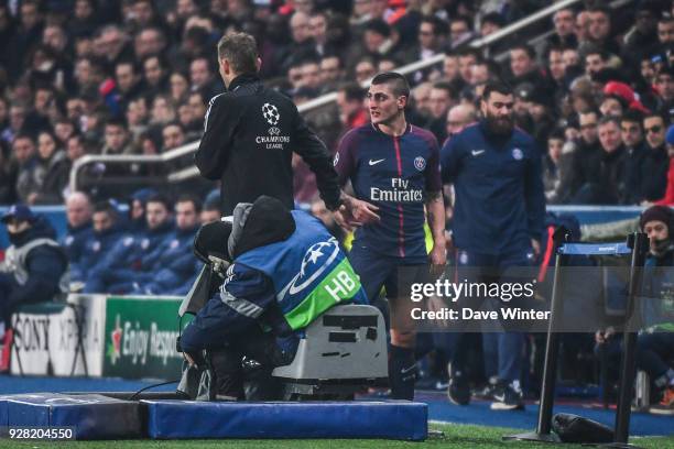
[[[337,209],[340,189],[331,156],[293,101],[260,81],[254,39],[244,33],[224,36],[218,63],[228,91],[210,100],[195,162],[203,176],[221,179],[222,215],[261,195],[279,198],[292,209],[293,152],[316,174],[328,209]]]

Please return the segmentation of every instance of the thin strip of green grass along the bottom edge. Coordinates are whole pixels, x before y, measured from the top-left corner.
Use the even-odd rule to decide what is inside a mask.
[[[673,420],[674,425],[674,420]],[[392,440],[358,440],[358,439],[329,439],[329,440],[180,440],[180,441],[152,441],[152,440],[126,440],[126,441],[15,441],[0,440],[0,449],[6,448],[73,448],[73,449],[426,449],[426,448],[580,448],[572,445],[534,445],[530,442],[502,441],[501,436],[518,434],[522,430],[499,427],[481,427],[465,425],[439,425],[432,424],[432,430],[441,430],[444,436],[432,436],[424,442],[407,442]],[[630,442],[641,448],[674,449],[674,437],[648,437],[632,438]]]

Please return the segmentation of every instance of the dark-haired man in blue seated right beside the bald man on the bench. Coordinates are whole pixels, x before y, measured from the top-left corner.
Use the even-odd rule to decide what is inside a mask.
[[[111,201],[100,201],[94,206],[91,223],[93,230],[86,233],[79,259],[70,259],[70,287],[77,292],[84,288],[89,274],[99,270],[112,247],[129,237]]]

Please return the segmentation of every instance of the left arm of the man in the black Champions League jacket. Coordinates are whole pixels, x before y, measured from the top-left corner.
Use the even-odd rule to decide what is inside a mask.
[[[204,135],[194,155],[194,163],[205,178],[216,180],[222,176],[240,118],[241,108],[231,97],[220,94],[210,99],[204,118]]]

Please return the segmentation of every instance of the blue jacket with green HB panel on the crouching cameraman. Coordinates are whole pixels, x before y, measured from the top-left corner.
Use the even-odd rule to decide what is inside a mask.
[[[295,229],[290,237],[236,256],[220,292],[185,328],[183,349],[222,346],[228,335],[244,332],[260,322],[269,325],[278,337],[289,338],[338,302],[367,303],[335,238],[306,212],[293,211],[292,217]],[[253,220],[248,219],[243,233]],[[248,238],[257,239],[259,233]]]

